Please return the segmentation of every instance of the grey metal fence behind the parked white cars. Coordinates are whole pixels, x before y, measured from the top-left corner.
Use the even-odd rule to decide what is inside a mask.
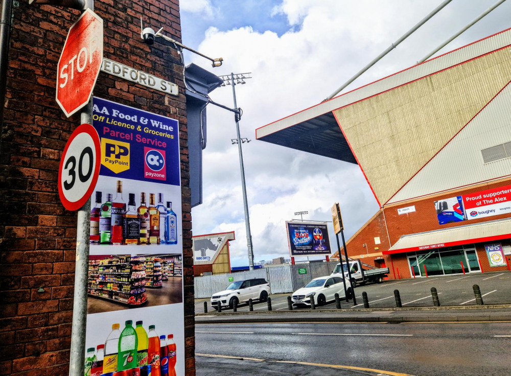
[[[208,298],[216,292],[225,290],[230,284],[229,277],[232,277],[233,281],[265,278],[270,284],[272,294],[292,293],[307,285],[313,278],[332,274],[336,265],[337,262],[312,262],[310,264],[273,266],[246,272],[195,277],[195,297]],[[299,274],[298,269],[305,269],[306,273]]]

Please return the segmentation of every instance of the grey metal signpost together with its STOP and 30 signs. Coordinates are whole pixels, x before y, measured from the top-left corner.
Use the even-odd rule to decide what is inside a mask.
[[[103,61],[103,20],[94,13],[94,1],[86,0],[80,18],[69,29],[62,54],[57,65],[57,93],[56,101],[67,117],[85,107],[80,114],[83,127],[92,123],[91,95],[96,85],[101,63]],[[91,126],[90,126],[91,127]],[[81,132],[80,132],[81,133]],[[97,136],[97,132],[96,132]],[[83,136],[78,136],[83,137]],[[93,138],[93,137],[91,137]],[[70,207],[78,210],[77,238],[76,238],[76,266],[75,266],[75,293],[73,301],[73,326],[71,332],[71,355],[69,359],[69,375],[78,376],[83,374],[85,355],[85,330],[87,318],[87,278],[88,278],[88,255],[89,255],[89,230],[90,230],[90,194],[82,196],[83,185],[89,184],[86,192],[94,190],[99,170],[94,169],[90,174],[90,166],[82,170],[84,160],[89,163],[94,160],[96,150],[90,145],[81,150],[78,159],[72,153],[75,150],[73,139],[66,147],[59,171],[59,192],[63,188],[61,197],[65,201],[74,202]],[[68,153],[66,153],[69,151]],[[91,152],[92,151],[92,152]],[[91,156],[92,154],[92,156]],[[74,159],[73,159],[74,157]],[[78,171],[73,175],[74,163],[77,163]],[[82,163],[80,163],[80,160]],[[96,161],[99,161],[96,155]],[[66,171],[64,172],[63,169]],[[85,171],[85,172],[84,172]],[[78,174],[78,176],[76,176]],[[64,177],[62,176],[64,175]],[[66,176],[67,175],[67,176]],[[68,179],[67,179],[67,178]],[[73,179],[74,177],[74,179]],[[95,177],[96,181],[93,181]],[[75,185],[76,184],[76,185]],[[61,185],[61,186],[60,186]],[[67,189],[69,188],[69,189]],[[74,195],[65,192],[74,192]],[[71,197],[69,200],[67,197]],[[81,207],[78,205],[81,204]]]

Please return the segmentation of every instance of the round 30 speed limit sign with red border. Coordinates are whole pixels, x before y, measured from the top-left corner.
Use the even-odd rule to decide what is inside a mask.
[[[81,208],[98,181],[101,166],[101,143],[90,124],[82,124],[67,140],[60,160],[59,196],[68,210]]]

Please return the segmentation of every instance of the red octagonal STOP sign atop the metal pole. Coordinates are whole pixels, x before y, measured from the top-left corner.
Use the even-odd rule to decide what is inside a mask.
[[[69,29],[57,65],[57,103],[67,117],[86,105],[103,62],[103,20],[90,9]]]

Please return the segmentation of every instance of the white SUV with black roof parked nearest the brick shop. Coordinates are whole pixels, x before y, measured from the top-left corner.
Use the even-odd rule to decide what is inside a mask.
[[[270,285],[264,278],[252,278],[238,280],[231,283],[223,291],[214,293],[211,297],[211,307],[233,308],[236,305],[247,302],[248,299],[266,301],[270,294]]]

